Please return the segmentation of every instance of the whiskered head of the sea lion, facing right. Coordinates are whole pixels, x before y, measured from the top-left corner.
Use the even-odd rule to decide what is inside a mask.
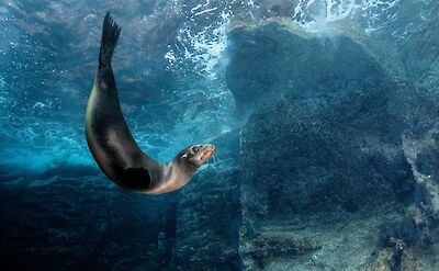
[[[176,160],[181,169],[184,169],[188,173],[193,173],[214,153],[215,146],[212,144],[192,145],[181,150],[177,155]]]

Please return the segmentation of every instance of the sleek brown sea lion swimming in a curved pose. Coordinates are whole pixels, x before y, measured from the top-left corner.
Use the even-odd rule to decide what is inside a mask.
[[[103,21],[98,74],[87,104],[86,137],[101,170],[119,185],[143,194],[180,189],[215,151],[215,146],[192,145],[161,163],[143,153],[130,133],[119,103],[111,57],[121,27],[106,13]]]

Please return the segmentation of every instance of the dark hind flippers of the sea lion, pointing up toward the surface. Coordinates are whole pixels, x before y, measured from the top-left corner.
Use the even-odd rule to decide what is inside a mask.
[[[101,50],[99,52],[99,69],[111,66],[111,56],[116,47],[121,27],[111,18],[110,12],[106,12],[103,20]]]

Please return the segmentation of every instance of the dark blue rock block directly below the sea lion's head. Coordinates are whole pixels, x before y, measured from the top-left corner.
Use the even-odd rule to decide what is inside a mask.
[[[181,190],[177,207],[177,270],[241,270],[237,176],[236,169],[206,168]]]

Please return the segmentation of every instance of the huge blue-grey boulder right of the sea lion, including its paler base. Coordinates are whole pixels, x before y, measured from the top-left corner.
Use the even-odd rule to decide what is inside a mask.
[[[381,224],[397,221],[396,210],[412,200],[402,135],[415,99],[389,64],[349,34],[315,35],[270,22],[236,29],[229,38],[227,84],[249,115],[239,157],[244,267],[314,261],[315,270],[358,270],[379,246]],[[345,228],[345,237],[292,229],[316,216],[330,230]],[[271,255],[283,245],[264,237],[267,228],[291,235],[295,253]],[[308,228],[330,232],[315,223]],[[263,251],[261,241],[269,244]],[[314,259],[333,246],[363,253],[351,255],[350,266],[346,259],[330,262],[339,257],[334,252]]]

